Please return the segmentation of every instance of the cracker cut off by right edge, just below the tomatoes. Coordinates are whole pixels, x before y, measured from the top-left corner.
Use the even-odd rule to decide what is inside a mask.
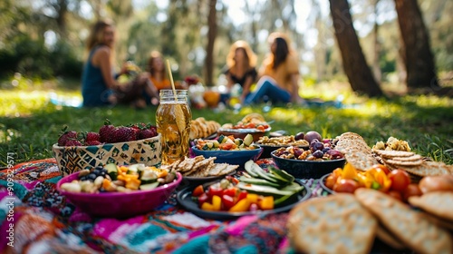
[[[428,192],[419,197],[410,197],[409,202],[439,218],[453,222],[453,191]]]

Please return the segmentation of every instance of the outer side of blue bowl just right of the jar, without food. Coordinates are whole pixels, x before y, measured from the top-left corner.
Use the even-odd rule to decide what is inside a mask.
[[[228,163],[232,165],[239,165],[239,167],[244,167],[246,161],[258,160],[263,148],[258,148],[254,150],[236,150],[236,151],[205,151],[199,150],[197,147],[192,146],[192,152],[198,156],[203,155],[205,158],[216,157],[215,163]]]

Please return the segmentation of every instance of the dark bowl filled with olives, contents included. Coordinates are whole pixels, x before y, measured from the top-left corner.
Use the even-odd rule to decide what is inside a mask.
[[[342,152],[333,148],[332,140],[320,142],[316,139],[308,150],[296,146],[282,147],[272,151],[271,157],[279,169],[299,179],[319,179],[342,168],[346,161]]]

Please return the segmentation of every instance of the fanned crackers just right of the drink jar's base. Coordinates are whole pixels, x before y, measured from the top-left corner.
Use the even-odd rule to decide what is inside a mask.
[[[187,177],[209,177],[229,174],[239,167],[228,163],[214,163],[217,157],[205,159],[203,155],[194,158],[182,158],[164,167],[169,171],[178,171]]]

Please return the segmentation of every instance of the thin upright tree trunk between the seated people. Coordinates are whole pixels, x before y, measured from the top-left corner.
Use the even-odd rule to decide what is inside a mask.
[[[209,15],[207,15],[207,49],[206,49],[206,78],[205,82],[207,86],[212,86],[213,73],[214,73],[214,43],[216,42],[217,35],[217,0],[209,0]]]

